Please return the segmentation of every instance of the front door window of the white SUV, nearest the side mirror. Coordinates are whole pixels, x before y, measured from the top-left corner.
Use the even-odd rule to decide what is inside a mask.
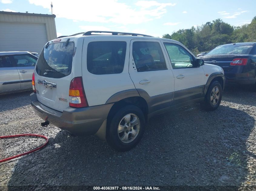
[[[165,48],[171,60],[173,69],[177,68],[192,68],[193,57],[188,51],[178,44],[164,43]]]

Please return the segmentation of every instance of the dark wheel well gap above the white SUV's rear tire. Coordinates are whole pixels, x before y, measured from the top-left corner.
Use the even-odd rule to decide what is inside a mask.
[[[142,110],[145,116],[145,121],[148,117],[148,104],[146,100],[142,97],[128,97],[123,100],[116,102],[110,109],[107,117],[107,126],[110,125],[111,119],[114,117],[115,113],[126,105],[135,105]]]

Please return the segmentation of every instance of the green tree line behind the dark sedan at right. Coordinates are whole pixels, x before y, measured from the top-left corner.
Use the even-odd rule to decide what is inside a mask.
[[[194,55],[208,52],[222,44],[256,42],[256,16],[250,24],[242,26],[231,26],[221,19],[216,19],[201,26],[180,29],[171,35],[164,34],[163,38],[181,42]]]

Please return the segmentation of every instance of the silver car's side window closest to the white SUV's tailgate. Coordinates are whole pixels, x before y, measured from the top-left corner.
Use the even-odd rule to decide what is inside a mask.
[[[33,57],[29,54],[13,55],[13,59],[14,59],[15,65],[17,65],[17,67],[35,66],[35,63],[37,61],[36,57]]]

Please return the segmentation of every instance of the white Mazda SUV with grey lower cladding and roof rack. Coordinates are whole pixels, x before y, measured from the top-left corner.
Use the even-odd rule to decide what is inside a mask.
[[[127,151],[152,116],[194,102],[217,109],[224,84],[221,67],[204,64],[178,41],[89,31],[45,45],[30,96],[42,126],[97,135]]]

